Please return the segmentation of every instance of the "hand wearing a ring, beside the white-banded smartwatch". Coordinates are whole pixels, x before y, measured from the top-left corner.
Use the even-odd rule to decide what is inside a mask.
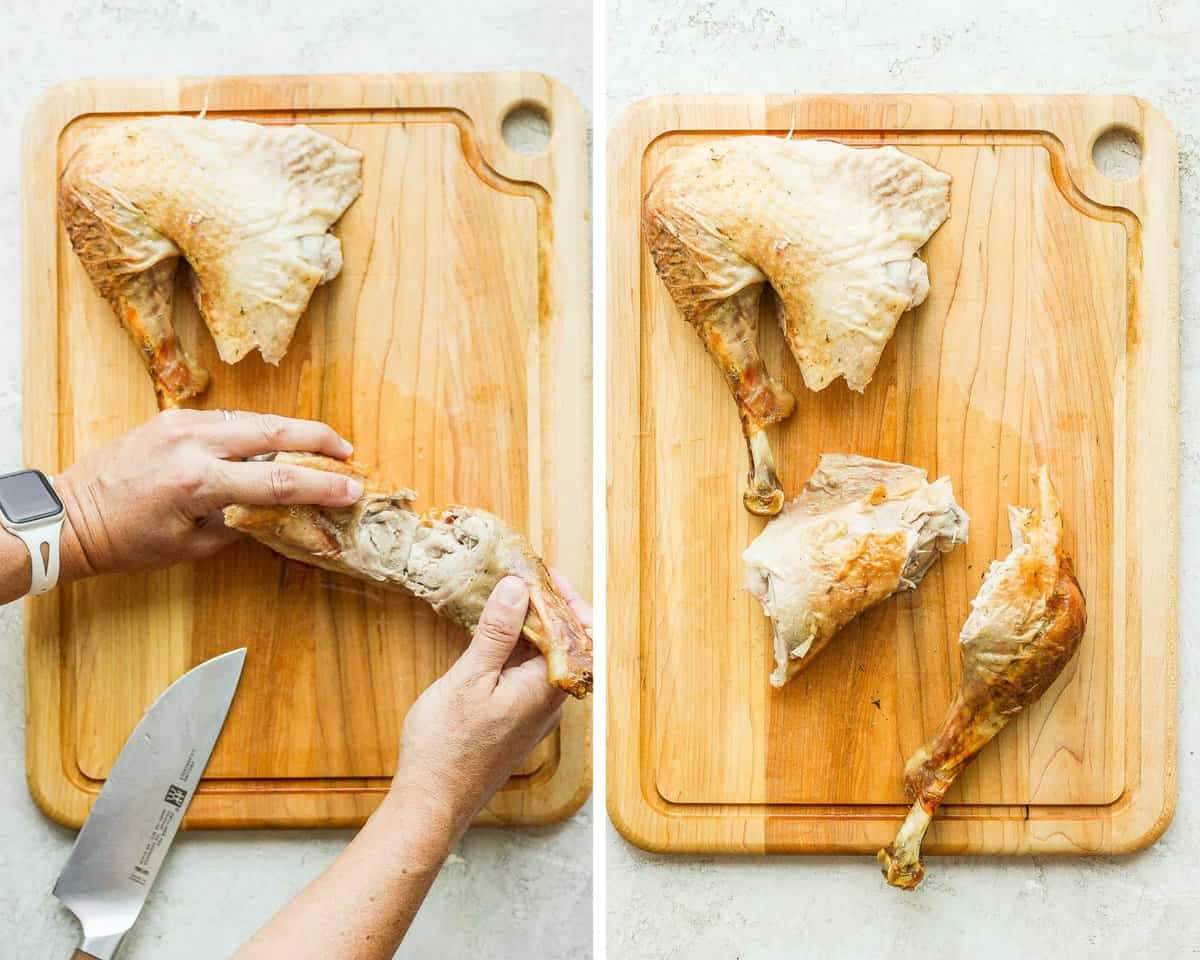
[[[64,580],[208,557],[239,536],[221,517],[232,503],[348,506],[362,496],[340,474],[240,462],[281,450],[352,452],[313,420],[173,409],[89,454],[54,480],[66,510]]]

